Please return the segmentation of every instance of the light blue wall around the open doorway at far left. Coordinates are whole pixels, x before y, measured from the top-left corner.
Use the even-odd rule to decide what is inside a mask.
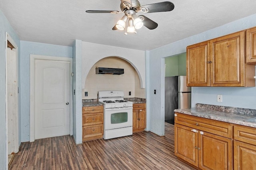
[[[5,57],[6,44],[5,33],[8,33],[18,46],[18,57],[20,53],[20,39],[14,29],[0,11],[0,169],[7,167],[6,160],[6,98],[5,98]],[[18,61],[19,62],[19,61]],[[19,96],[20,98],[20,96]],[[19,124],[20,125],[20,124]],[[20,136],[19,136],[20,137]]]

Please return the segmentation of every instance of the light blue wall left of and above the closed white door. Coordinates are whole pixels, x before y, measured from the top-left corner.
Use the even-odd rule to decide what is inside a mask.
[[[30,140],[30,54],[72,58],[72,47],[20,41],[21,142]]]

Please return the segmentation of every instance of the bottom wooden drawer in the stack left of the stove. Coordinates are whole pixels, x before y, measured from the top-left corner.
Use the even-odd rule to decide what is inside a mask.
[[[83,141],[101,138],[103,135],[103,124],[83,126]]]

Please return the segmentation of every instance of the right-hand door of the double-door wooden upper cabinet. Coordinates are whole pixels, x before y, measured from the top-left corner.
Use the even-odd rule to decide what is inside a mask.
[[[245,86],[245,31],[210,40],[211,86]]]

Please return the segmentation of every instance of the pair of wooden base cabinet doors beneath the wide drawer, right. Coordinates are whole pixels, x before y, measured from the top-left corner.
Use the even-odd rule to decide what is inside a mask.
[[[203,170],[232,169],[232,139],[179,124],[174,128],[177,157]]]

